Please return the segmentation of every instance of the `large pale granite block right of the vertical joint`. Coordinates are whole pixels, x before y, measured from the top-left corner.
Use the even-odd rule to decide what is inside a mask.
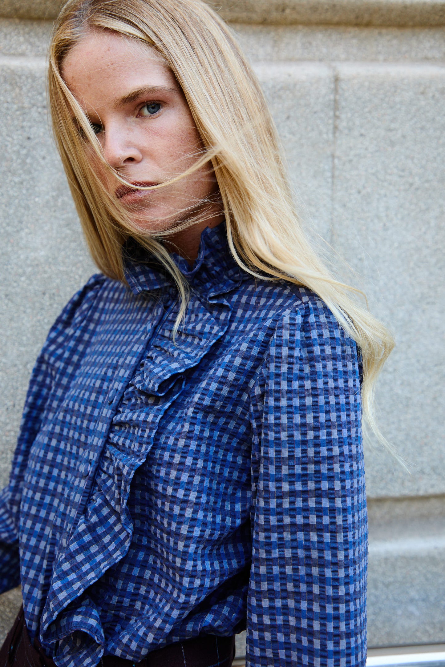
[[[339,65],[332,243],[396,333],[378,393],[389,440],[413,464],[368,456],[368,493],[445,492],[445,67]]]

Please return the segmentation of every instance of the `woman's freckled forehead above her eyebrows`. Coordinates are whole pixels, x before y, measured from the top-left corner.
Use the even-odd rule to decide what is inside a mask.
[[[67,53],[61,74],[85,107],[112,104],[138,88],[177,88],[171,69],[156,49],[108,31],[86,33]]]

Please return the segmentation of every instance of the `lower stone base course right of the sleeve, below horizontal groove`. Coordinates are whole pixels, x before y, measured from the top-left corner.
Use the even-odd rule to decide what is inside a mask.
[[[445,642],[445,499],[368,510],[368,646]]]

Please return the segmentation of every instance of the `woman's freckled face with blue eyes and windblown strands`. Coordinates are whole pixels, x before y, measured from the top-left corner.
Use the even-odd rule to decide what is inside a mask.
[[[199,157],[201,139],[187,101],[155,49],[116,33],[90,32],[65,57],[62,75],[91,121],[105,160],[127,181],[165,183]],[[184,248],[186,256],[195,252],[191,246],[196,239],[199,245],[201,229],[221,220],[217,204],[203,204],[217,192],[207,166],[152,191],[131,189],[105,174],[103,183],[135,225],[147,231],[175,229],[190,211],[203,208],[205,221],[199,229],[173,237],[190,246]]]

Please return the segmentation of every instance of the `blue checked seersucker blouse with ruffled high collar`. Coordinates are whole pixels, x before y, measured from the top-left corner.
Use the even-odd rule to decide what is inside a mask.
[[[366,662],[356,345],[204,231],[173,342],[159,269],[93,276],[37,360],[0,502],[1,590],[59,667],[248,630],[248,665]],[[19,566],[20,553],[20,566]]]

